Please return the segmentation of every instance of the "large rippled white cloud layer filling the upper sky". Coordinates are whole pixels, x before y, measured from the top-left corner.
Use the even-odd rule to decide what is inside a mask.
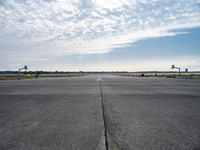
[[[4,53],[28,51],[36,57],[106,53],[178,34],[171,29],[200,26],[199,16],[199,2],[193,0],[5,0],[0,46]]]

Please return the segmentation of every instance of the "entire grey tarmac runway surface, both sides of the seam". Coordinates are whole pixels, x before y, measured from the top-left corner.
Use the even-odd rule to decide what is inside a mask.
[[[200,150],[200,80],[0,81],[0,150]]]

